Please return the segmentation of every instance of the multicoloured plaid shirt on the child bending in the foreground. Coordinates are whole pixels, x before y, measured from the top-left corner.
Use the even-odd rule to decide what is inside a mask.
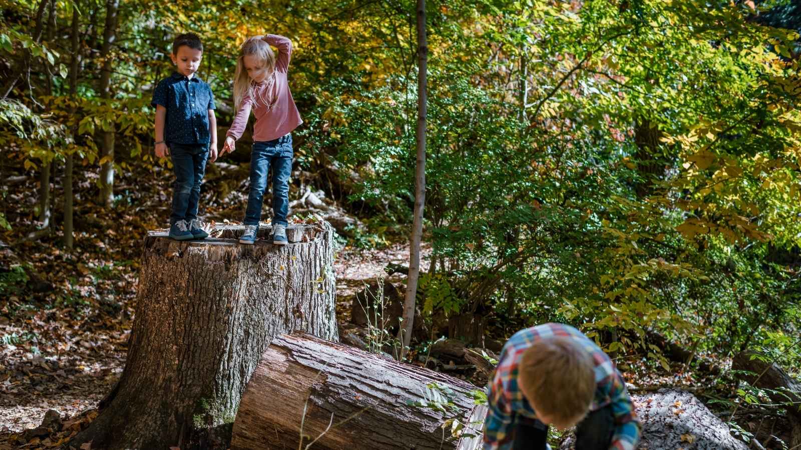
[[[595,343],[570,325],[545,323],[537,327],[517,331],[501,351],[500,360],[489,382],[489,412],[484,424],[485,450],[507,450],[512,448],[513,430],[517,422],[536,420],[537,414],[525,400],[517,384],[517,365],[523,352],[531,344],[552,336],[564,336],[581,342],[583,348],[593,356],[595,363],[595,398],[590,411],[612,405],[617,428],[612,436],[610,450],[632,450],[640,440],[640,424],[634,415],[626,384],[612,360]]]

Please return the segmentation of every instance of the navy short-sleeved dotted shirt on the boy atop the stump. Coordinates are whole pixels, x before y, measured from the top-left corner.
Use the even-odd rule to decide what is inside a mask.
[[[187,78],[172,74],[159,82],[153,91],[151,106],[167,108],[164,140],[167,144],[208,145],[208,110],[216,109],[211,87],[195,75]]]

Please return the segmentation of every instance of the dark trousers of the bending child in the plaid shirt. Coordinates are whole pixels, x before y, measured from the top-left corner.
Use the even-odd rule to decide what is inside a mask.
[[[612,407],[590,412],[576,427],[576,450],[607,450],[614,435]],[[545,450],[548,426],[539,420],[518,421],[513,450]]]

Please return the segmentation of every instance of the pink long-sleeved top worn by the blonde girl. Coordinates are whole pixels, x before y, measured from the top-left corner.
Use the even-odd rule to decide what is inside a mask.
[[[292,41],[277,34],[267,34],[264,40],[278,48],[275,81],[271,82],[268,77],[264,82],[256,83],[253,95],[242,98],[234,122],[225,134],[234,139],[239,139],[248,126],[251,110],[256,116],[256,124],[253,125],[253,140],[256,142],[278,139],[303,123],[287,80]]]

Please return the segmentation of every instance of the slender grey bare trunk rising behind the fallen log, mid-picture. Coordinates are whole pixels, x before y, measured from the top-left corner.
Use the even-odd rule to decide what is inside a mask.
[[[425,0],[417,0],[417,168],[414,174],[414,219],[412,242],[409,246],[409,277],[406,279],[406,299],[403,307],[403,323],[398,338],[403,344],[399,360],[405,356],[412,341],[414,328],[417,278],[420,275],[420,241],[423,235],[423,206],[425,205],[425,115],[427,110],[427,61],[429,46],[425,39]]]

